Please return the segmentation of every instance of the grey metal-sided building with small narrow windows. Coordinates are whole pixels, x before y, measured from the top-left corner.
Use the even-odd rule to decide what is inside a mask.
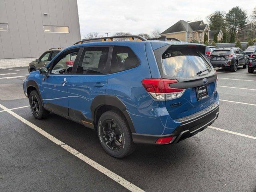
[[[26,66],[80,39],[76,0],[0,0],[0,67]]]

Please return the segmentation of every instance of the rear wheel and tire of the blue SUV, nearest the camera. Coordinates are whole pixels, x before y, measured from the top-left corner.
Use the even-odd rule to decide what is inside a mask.
[[[120,112],[105,112],[100,116],[97,127],[100,144],[111,156],[123,158],[135,150],[132,133]]]

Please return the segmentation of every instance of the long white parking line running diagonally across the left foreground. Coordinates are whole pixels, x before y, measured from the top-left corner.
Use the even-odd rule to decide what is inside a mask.
[[[98,164],[97,162],[95,162],[94,160],[88,158],[87,156],[85,156],[84,154],[81,154],[80,152],[78,152],[77,150],[75,150],[74,148],[68,146],[67,144],[65,144],[64,142],[58,140],[57,138],[55,138],[54,136],[48,134],[47,132],[45,132],[44,130],[42,130],[41,128],[39,128],[38,126],[32,124],[31,122],[29,122],[28,120],[24,119],[23,117],[19,116],[18,114],[14,113],[12,110],[6,108],[5,106],[0,104],[0,107],[2,109],[4,109],[6,112],[8,112],[9,114],[11,114],[12,116],[16,117],[18,120],[22,121],[23,123],[25,123],[26,125],[30,126],[31,128],[33,128],[34,130],[36,130],[37,132],[39,132],[40,134],[42,134],[43,136],[45,136],[46,138],[48,138],[49,140],[51,140],[52,142],[56,143],[57,145],[61,146],[62,148],[64,148],[65,150],[67,150],[68,152],[70,152],[71,154],[73,154],[74,156],[80,158],[82,161],[86,162],[87,164],[89,164],[90,166],[92,166],[93,168],[95,168],[96,170],[102,172],[103,174],[105,174],[106,176],[108,176],[109,178],[111,178],[112,180],[116,181],[117,183],[119,183],[120,185],[124,186],[125,188],[127,188],[128,190],[132,191],[132,192],[144,192],[144,190],[142,190],[141,188],[138,188],[137,186],[135,186],[134,184],[128,182],[127,180],[125,180],[124,178],[122,178],[121,176],[115,174],[114,172],[108,170],[107,168],[105,168],[104,166]]]

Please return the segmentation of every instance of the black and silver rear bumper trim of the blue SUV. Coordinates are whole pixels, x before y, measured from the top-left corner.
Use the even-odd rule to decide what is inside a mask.
[[[181,140],[189,138],[198,132],[204,130],[210,126],[214,120],[218,118],[219,115],[219,104],[213,103],[207,108],[194,113],[192,115],[176,119],[176,121],[181,122],[175,131],[168,135],[148,135],[148,134],[138,134],[132,133],[132,138],[134,143],[146,143],[155,144],[158,138],[164,138],[168,136],[173,136],[170,143],[178,143]]]

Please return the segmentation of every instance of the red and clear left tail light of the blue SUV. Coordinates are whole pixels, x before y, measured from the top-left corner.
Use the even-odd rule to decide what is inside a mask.
[[[170,100],[179,98],[185,89],[171,88],[170,84],[177,83],[177,80],[171,79],[144,79],[141,81],[146,91],[155,100]]]

